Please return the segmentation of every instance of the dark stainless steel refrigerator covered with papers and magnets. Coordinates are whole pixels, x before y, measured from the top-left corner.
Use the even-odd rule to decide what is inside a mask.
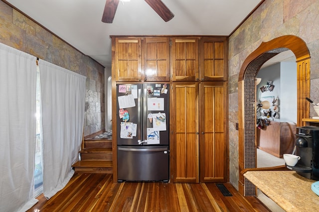
[[[168,86],[117,85],[119,182],[169,180]]]

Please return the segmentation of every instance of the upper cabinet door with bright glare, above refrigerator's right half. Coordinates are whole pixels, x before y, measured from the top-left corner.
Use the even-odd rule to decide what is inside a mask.
[[[169,38],[146,37],[142,45],[144,81],[169,81]]]

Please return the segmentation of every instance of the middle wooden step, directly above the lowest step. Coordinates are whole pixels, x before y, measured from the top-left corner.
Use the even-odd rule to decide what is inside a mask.
[[[112,160],[112,148],[85,148],[80,151],[81,160]]]

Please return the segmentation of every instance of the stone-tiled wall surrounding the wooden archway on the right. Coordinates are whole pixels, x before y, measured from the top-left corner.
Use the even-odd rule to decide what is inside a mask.
[[[238,188],[238,74],[261,42],[283,35],[302,38],[311,55],[311,99],[319,103],[319,0],[265,0],[229,38],[229,172]],[[314,114],[311,111],[311,115]]]

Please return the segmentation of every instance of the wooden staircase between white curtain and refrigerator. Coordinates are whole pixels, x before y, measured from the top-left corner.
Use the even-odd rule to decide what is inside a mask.
[[[101,133],[83,138],[81,160],[72,165],[75,173],[113,173],[112,139],[94,138]]]

